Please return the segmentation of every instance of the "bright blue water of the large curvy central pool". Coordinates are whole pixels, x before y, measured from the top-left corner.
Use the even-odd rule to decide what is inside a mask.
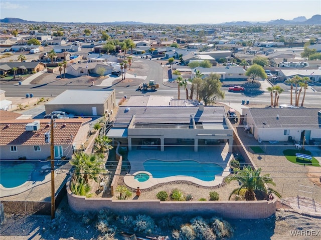
[[[195,160],[162,161],[149,159],[143,163],[146,171],[154,178],[168,176],[193,176],[203,181],[213,181],[215,175],[221,175],[223,167],[216,163],[201,163]]]

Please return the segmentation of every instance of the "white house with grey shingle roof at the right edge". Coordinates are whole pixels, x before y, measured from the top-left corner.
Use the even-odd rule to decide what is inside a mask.
[[[262,141],[321,141],[320,108],[242,108],[244,124]]]

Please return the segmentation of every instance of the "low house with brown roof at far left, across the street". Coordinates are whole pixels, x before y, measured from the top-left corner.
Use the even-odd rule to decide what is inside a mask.
[[[46,64],[39,61],[23,61],[23,62],[2,62],[0,65],[0,75],[5,75],[9,72],[13,74],[13,67],[17,67],[16,75],[38,72],[46,68]]]

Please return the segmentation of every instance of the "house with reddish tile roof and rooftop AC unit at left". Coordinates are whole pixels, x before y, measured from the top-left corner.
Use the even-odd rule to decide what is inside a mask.
[[[55,159],[71,157],[87,139],[91,118],[54,120]],[[0,159],[47,159],[51,119],[12,119],[0,116]]]

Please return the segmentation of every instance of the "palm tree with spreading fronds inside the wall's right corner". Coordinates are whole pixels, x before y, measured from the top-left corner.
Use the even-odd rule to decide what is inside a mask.
[[[233,180],[237,180],[240,183],[239,188],[235,188],[230,196],[229,199],[233,194],[237,192],[237,194],[240,193],[241,189],[246,189],[244,198],[247,201],[253,201],[255,200],[255,193],[254,190],[260,190],[265,193],[273,192],[278,197],[281,197],[281,195],[274,189],[270,187],[265,187],[265,184],[272,184],[275,186],[275,182],[270,177],[270,174],[265,174],[263,176],[260,176],[261,174],[261,168],[258,169],[252,169],[251,167],[244,167],[242,170],[238,170],[237,174],[227,176],[225,178],[227,183],[230,183]]]

